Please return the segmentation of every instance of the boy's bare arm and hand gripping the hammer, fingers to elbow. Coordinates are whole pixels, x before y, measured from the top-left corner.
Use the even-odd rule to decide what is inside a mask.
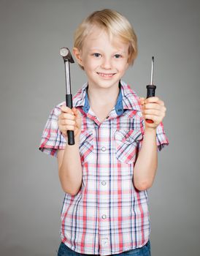
[[[58,150],[58,176],[61,187],[69,195],[77,195],[82,183],[82,166],[80,161],[80,131],[81,116],[78,110],[61,107],[61,115],[58,117],[58,127],[66,138],[68,129],[74,130],[74,145],[68,145],[64,150]]]

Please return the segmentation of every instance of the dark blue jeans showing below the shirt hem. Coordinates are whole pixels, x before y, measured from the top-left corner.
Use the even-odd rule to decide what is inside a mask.
[[[61,245],[58,249],[58,256],[92,256],[84,255],[82,253],[74,252],[72,249],[69,249],[64,243],[61,242]],[[114,255],[112,255],[114,256]],[[131,251],[121,252],[117,256],[150,256],[150,241],[147,242],[144,246],[137,249],[131,249]]]

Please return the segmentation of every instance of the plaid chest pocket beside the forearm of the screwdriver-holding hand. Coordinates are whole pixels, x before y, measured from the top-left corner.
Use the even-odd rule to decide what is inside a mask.
[[[140,130],[117,130],[115,132],[115,154],[117,159],[126,164],[134,164],[142,138]]]

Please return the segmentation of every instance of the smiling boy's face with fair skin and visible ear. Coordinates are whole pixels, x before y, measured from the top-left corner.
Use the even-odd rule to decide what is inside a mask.
[[[74,48],[74,55],[93,88],[118,86],[128,68],[128,44],[118,37],[114,45],[107,32],[98,27],[85,38],[82,50]]]

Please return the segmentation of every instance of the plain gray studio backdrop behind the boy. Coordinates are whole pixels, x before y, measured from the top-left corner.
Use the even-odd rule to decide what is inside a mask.
[[[150,83],[167,107],[170,146],[159,154],[150,189],[153,256],[200,255],[199,0],[0,1],[0,255],[50,256],[60,243],[64,192],[57,160],[38,150],[50,110],[64,101],[59,49],[72,49],[74,29],[104,7],[130,20],[139,56],[125,78],[139,96]],[[84,72],[74,64],[73,93]]]

